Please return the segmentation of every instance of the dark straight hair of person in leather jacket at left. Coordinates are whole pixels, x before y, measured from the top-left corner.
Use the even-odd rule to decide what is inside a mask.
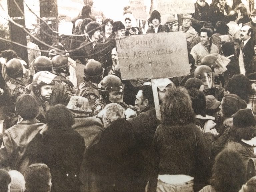
[[[37,117],[39,107],[34,97],[28,94],[20,95],[16,100],[15,111],[24,120],[32,120]]]

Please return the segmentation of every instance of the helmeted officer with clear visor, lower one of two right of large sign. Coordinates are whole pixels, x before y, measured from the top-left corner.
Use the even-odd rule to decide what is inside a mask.
[[[203,81],[204,94],[213,95],[217,100],[221,101],[224,97],[224,88],[215,84],[214,72],[207,65],[200,65],[195,69],[194,77]]]

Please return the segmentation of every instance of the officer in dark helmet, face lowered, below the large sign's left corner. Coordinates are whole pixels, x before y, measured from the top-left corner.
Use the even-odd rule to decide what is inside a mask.
[[[132,105],[127,105],[123,102],[124,97],[124,84],[122,84],[121,79],[115,75],[108,75],[104,77],[101,81],[100,98],[96,100],[94,106],[92,107],[93,116],[98,115],[98,113],[109,103],[118,103],[124,109],[128,109],[129,113],[131,110],[139,111],[139,107],[134,107]],[[127,114],[127,113],[126,113]],[[136,116],[134,112],[133,115]],[[126,115],[128,118],[128,116]]]

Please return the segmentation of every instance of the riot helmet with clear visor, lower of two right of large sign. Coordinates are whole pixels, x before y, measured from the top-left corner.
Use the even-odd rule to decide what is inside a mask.
[[[194,77],[203,81],[205,89],[214,87],[214,73],[211,67],[207,65],[198,66],[195,69]]]

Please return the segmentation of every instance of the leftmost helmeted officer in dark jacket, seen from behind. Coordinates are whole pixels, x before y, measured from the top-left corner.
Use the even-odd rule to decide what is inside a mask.
[[[4,98],[6,100],[4,107],[4,116],[6,128],[13,126],[17,122],[15,115],[15,102],[18,96],[27,94],[23,82],[23,66],[19,59],[11,59],[6,63],[5,71],[9,76],[4,88]]]

